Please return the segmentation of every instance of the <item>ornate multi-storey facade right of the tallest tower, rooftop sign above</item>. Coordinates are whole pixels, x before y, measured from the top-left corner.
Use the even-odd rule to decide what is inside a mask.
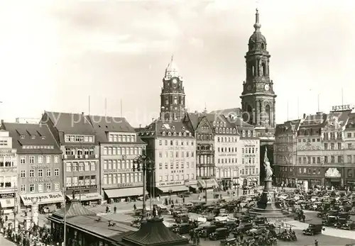
[[[298,129],[294,126],[296,133],[290,133],[296,135],[293,147],[275,153],[276,181],[305,189],[319,185],[354,187],[354,113],[351,110],[317,112],[299,122]],[[275,148],[285,145],[281,139],[288,125],[278,125]],[[285,161],[285,156],[295,157],[293,163]]]

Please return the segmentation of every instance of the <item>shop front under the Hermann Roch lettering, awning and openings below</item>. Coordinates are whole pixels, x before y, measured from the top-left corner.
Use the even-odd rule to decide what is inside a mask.
[[[33,202],[38,204],[39,210],[45,207],[61,208],[64,203],[64,196],[61,191],[23,194],[21,197],[21,208],[33,206]]]

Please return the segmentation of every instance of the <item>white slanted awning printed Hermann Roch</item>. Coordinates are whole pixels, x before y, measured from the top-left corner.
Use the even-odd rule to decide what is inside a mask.
[[[50,203],[61,203],[64,202],[64,196],[62,192],[47,192],[47,193],[36,193],[36,194],[26,194],[20,195],[24,206],[31,206],[33,204],[32,200],[37,199],[37,204],[50,204]]]

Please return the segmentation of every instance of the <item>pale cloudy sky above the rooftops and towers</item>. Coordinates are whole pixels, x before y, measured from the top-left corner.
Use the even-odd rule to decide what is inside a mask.
[[[324,112],[355,104],[354,5],[353,0],[0,1],[0,118],[90,111],[146,125],[158,117],[171,55],[185,79],[189,111],[240,107],[256,7],[271,54],[277,123],[318,111],[318,95]]]

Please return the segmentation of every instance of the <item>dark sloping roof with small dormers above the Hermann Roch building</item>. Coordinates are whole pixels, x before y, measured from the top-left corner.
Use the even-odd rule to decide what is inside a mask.
[[[18,153],[61,152],[46,124],[2,123],[1,129],[9,131],[12,146]]]

